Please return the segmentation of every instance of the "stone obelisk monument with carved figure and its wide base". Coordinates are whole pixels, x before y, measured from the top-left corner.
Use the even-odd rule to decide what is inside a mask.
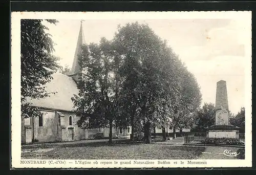
[[[217,82],[215,124],[206,129],[208,137],[239,137],[239,127],[229,123],[227,84],[224,80]]]

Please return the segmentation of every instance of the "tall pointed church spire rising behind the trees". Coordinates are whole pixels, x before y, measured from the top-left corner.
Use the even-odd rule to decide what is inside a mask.
[[[81,46],[86,43],[86,40],[84,39],[83,30],[82,30],[82,21],[83,20],[81,20],[81,26],[80,26],[78,39],[77,39],[76,51],[75,51],[75,55],[74,55],[74,61],[73,61],[72,69],[71,69],[71,74],[76,74],[81,70],[80,65],[78,63],[77,55],[80,54],[82,51]]]

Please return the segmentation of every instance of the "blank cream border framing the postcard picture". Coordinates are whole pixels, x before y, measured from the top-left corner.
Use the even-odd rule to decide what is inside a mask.
[[[252,142],[251,142],[251,59],[245,60],[245,108],[246,108],[246,131],[245,131],[245,160],[200,160],[206,161],[206,165],[188,165],[187,161],[193,160],[165,160],[170,162],[185,162],[184,164],[157,164],[157,160],[150,160],[155,162],[154,165],[92,165],[75,164],[75,160],[63,160],[65,164],[51,164],[51,160],[47,160],[46,164],[21,164],[21,118],[20,118],[20,19],[185,19],[185,18],[241,18],[248,20],[251,24],[250,11],[207,11],[207,12],[12,12],[11,13],[11,165],[12,168],[157,168],[157,167],[251,167],[252,166]],[[244,38],[246,41],[246,58],[251,58],[251,26],[245,27]],[[107,161],[107,160],[104,160]],[[124,161],[124,160],[109,160]],[[138,160],[137,160],[138,161]],[[140,160],[142,161],[142,160]],[[164,161],[164,160],[161,160]],[[199,161],[199,160],[194,160]],[[69,163],[73,162],[73,163]],[[132,160],[133,162],[133,160]]]

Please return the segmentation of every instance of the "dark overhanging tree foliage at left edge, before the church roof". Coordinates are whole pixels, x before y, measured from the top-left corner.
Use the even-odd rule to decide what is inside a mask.
[[[44,85],[49,82],[53,71],[59,68],[58,57],[52,55],[54,42],[51,35],[46,33],[48,28],[42,24],[41,19],[20,20],[21,29],[21,101],[22,117],[37,116],[36,108],[26,102],[27,98],[44,98],[51,92],[45,90]],[[46,20],[56,24],[53,19]]]

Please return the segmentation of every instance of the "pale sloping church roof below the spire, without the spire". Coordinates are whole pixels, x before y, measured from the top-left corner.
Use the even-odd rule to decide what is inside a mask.
[[[73,102],[72,97],[78,95],[76,82],[73,78],[61,73],[53,73],[53,79],[45,84],[46,91],[50,94],[49,97],[41,99],[28,99],[27,102],[32,103],[32,106],[51,108],[55,110],[72,111]]]

